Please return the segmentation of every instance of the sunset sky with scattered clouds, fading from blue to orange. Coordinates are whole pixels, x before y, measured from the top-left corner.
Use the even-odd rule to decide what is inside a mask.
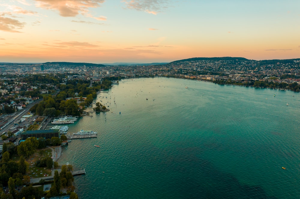
[[[0,62],[300,58],[300,0],[0,0]]]

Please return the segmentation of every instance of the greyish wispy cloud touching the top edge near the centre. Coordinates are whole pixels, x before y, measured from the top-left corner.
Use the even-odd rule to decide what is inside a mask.
[[[121,2],[124,2],[128,9],[144,11],[154,15],[161,12],[162,8],[166,9],[168,4],[168,0],[124,0]]]

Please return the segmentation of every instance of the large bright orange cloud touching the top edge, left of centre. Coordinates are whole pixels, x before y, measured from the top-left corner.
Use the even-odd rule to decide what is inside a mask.
[[[36,6],[48,10],[58,10],[63,17],[74,17],[82,14],[97,20],[106,20],[106,17],[94,17],[88,14],[89,8],[99,7],[104,0],[35,0]]]

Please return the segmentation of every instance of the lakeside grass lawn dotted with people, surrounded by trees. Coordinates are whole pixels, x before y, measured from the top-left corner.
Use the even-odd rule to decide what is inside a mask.
[[[29,164],[27,175],[33,178],[37,177],[45,177],[47,175],[51,175],[51,169],[47,169],[46,167],[36,167],[35,163],[38,160],[42,160],[47,157],[52,157],[51,149],[41,149],[35,152],[32,156],[30,156],[26,162]]]

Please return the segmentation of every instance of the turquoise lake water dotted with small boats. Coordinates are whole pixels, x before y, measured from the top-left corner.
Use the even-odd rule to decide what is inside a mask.
[[[98,137],[72,140],[59,160],[85,168],[81,199],[300,198],[299,93],[149,78],[95,100],[110,112],[68,132]]]

